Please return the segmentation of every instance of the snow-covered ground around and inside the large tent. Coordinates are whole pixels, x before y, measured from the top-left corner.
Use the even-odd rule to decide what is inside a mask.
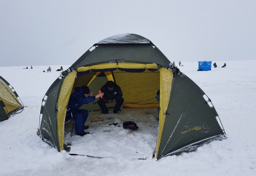
[[[224,62],[227,67],[220,68]],[[256,175],[256,61],[217,61],[219,67],[207,72],[196,71],[196,61],[182,64],[181,71],[212,100],[228,138],[158,162],[152,159],[156,109],[122,109],[120,115],[93,112],[86,121],[91,134],[66,135],[66,142],[72,144],[70,153],[106,158],[58,153],[36,132],[42,99],[60,75],[55,71],[60,66],[51,66],[52,72],[42,72],[48,66],[0,67],[0,75],[26,106],[0,122],[0,175]],[[96,117],[104,120],[95,121]],[[122,122],[129,120],[138,124],[134,133],[122,128]],[[113,123],[120,127],[109,126]]]

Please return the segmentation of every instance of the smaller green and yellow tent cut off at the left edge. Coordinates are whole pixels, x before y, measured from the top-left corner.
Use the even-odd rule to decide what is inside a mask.
[[[0,121],[23,110],[24,105],[12,86],[0,76]]]

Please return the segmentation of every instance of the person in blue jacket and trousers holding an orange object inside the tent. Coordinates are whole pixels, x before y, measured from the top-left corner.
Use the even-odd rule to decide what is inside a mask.
[[[93,96],[93,91],[89,90],[88,86],[76,87],[75,92],[73,92],[68,101],[68,110],[71,111],[73,117],[75,118],[75,134],[84,136],[89,134],[89,132],[84,132],[84,124],[88,117],[88,110],[80,110],[79,108],[83,104],[89,104],[95,99],[103,96],[104,93]]]

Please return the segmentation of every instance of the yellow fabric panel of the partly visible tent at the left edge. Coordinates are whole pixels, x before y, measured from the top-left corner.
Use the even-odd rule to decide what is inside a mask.
[[[4,110],[6,111],[6,114],[12,112],[13,110],[17,110],[18,108],[21,108],[21,104],[19,104],[19,99],[17,99],[14,92],[12,92],[12,89],[0,79],[0,97],[3,101],[3,104],[5,104],[6,108]]]

